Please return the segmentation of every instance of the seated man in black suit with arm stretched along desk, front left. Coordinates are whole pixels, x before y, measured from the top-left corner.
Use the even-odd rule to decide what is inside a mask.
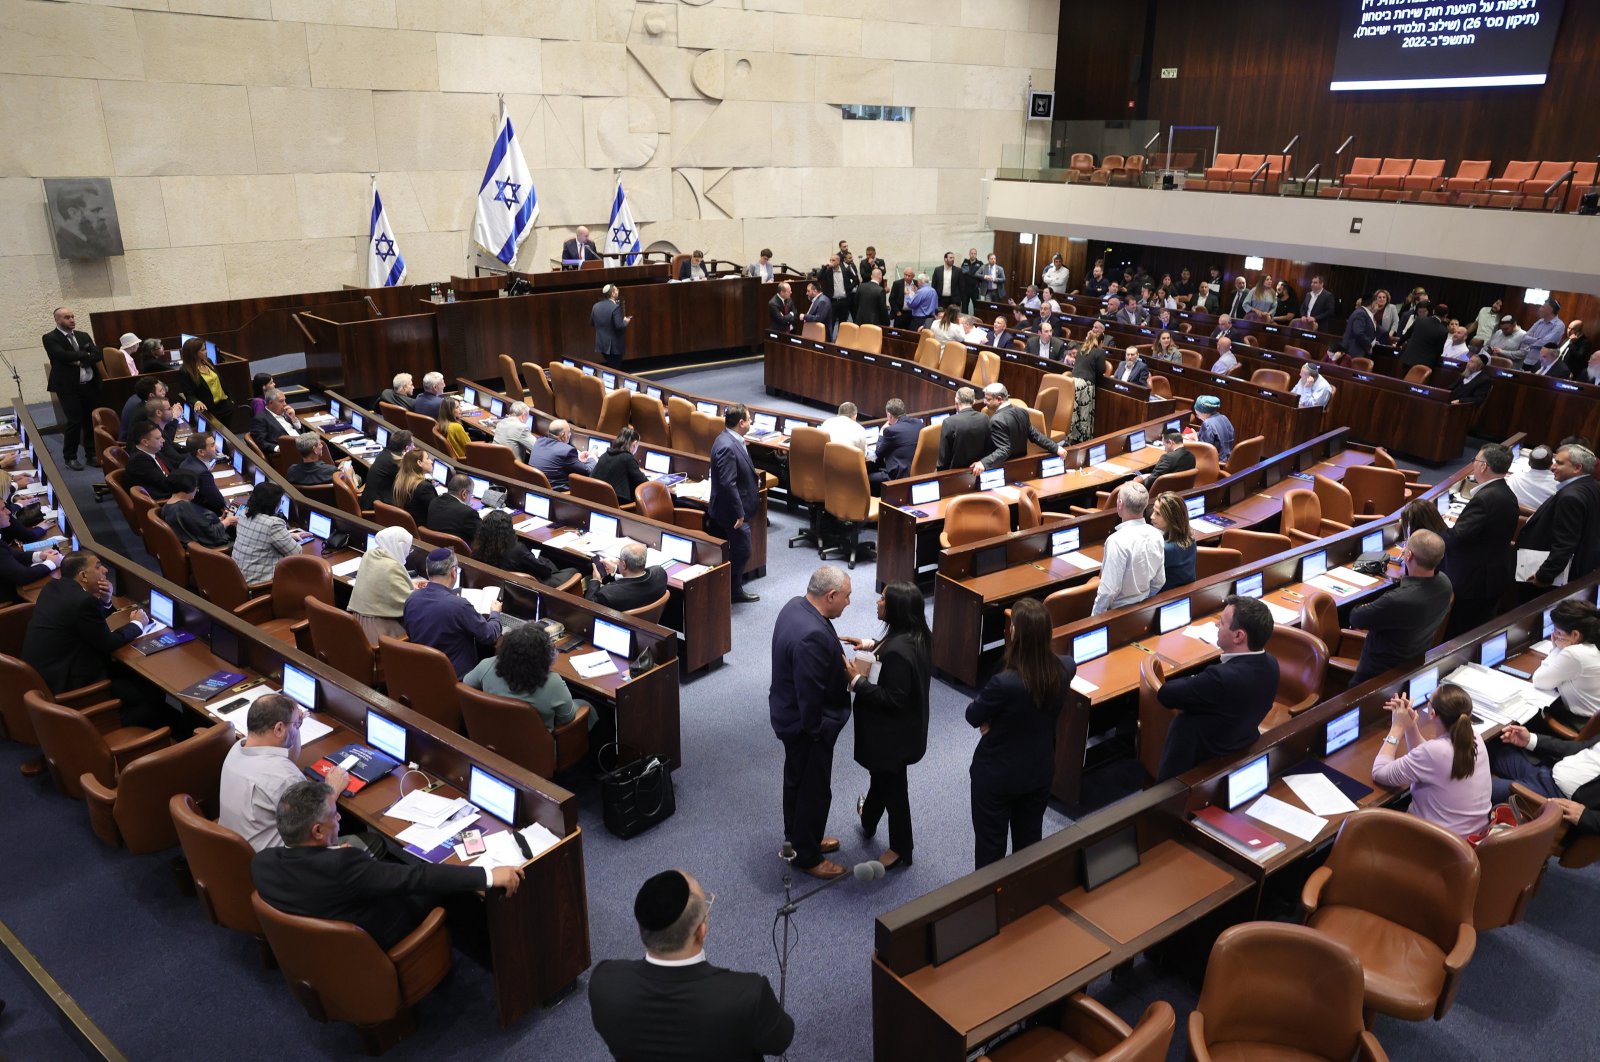
[[[386,862],[336,844],[339,795],[323,781],[283,790],[277,822],[283,848],[264,848],[250,860],[261,899],[285,915],[355,923],[386,950],[421,924],[435,894],[506,889],[512,896],[522,884],[522,867]]]

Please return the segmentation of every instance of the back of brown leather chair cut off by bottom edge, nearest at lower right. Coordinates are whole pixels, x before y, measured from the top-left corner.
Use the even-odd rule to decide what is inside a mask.
[[[1306,926],[1250,921],[1211,947],[1189,1057],[1387,1062],[1362,1024],[1362,961]]]

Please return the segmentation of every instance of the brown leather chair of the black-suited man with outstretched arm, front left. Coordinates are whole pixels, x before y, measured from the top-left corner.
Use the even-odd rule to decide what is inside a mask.
[[[413,1008],[450,972],[443,907],[384,952],[352,923],[285,915],[259,892],[250,902],[294,998],[318,1022],[355,1025],[366,1054],[416,1032]]]

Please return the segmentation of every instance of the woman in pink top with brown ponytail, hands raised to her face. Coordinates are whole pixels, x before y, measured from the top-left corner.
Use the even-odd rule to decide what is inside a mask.
[[[1472,696],[1454,683],[1440,683],[1427,709],[1443,731],[1422,739],[1411,697],[1389,697],[1394,713],[1389,736],[1373,760],[1373,782],[1410,785],[1411,814],[1459,836],[1480,833],[1490,819],[1490,752],[1472,733]],[[1400,744],[1405,742],[1405,755]]]

